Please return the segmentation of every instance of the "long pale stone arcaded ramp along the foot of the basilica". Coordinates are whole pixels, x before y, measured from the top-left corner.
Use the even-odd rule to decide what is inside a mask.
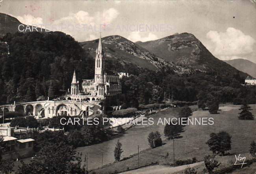
[[[94,100],[93,100],[94,99]],[[88,100],[45,100],[36,102],[22,102],[0,106],[4,112],[17,112],[22,115],[33,115],[36,118],[52,118],[58,115],[85,117],[102,114],[103,100],[91,97]]]

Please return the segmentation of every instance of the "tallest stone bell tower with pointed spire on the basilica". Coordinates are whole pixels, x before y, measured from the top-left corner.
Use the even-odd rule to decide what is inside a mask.
[[[95,56],[95,85],[97,95],[104,96],[105,93],[105,85],[104,85],[104,74],[105,74],[105,58],[104,52],[102,51],[102,41],[101,35],[98,43],[98,48],[96,49],[96,56]],[[98,89],[98,90],[97,90]]]

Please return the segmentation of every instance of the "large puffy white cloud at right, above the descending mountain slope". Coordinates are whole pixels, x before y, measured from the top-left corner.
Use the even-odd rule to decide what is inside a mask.
[[[209,31],[206,37],[213,43],[213,54],[222,57],[242,57],[254,52],[255,40],[235,28],[225,32]]]

